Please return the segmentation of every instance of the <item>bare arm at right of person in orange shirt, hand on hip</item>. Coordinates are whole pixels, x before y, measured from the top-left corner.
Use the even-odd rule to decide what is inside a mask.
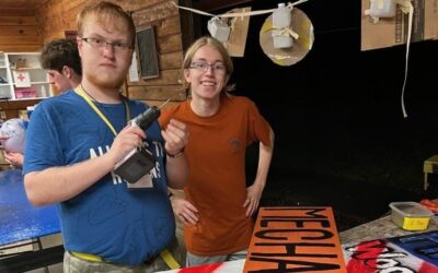
[[[274,150],[274,131],[272,128],[269,128],[269,145],[264,145],[262,142],[260,142],[257,174],[253,185],[246,189],[246,200],[243,204],[244,207],[247,207],[246,217],[250,217],[254,214],[266,185],[267,173],[269,170]]]

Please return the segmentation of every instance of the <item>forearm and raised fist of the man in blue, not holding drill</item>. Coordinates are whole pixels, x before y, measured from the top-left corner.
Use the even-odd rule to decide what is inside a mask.
[[[187,158],[184,155],[188,139],[187,126],[171,119],[161,134],[165,140],[168,185],[174,189],[182,189],[188,176]]]

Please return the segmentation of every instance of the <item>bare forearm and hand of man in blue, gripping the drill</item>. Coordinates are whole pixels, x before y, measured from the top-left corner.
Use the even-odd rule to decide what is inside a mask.
[[[114,169],[137,145],[141,145],[145,132],[138,127],[126,127],[114,139],[110,151],[70,166],[49,167],[24,176],[24,187],[34,205],[53,204],[69,200]]]

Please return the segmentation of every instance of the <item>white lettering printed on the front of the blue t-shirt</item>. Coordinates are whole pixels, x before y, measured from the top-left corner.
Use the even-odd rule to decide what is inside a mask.
[[[152,147],[149,149],[150,146],[152,146]],[[155,167],[153,167],[150,170],[150,174],[152,175],[152,178],[154,178],[154,179],[161,178],[162,174],[160,173],[160,169],[161,169],[160,162],[162,162],[161,158],[163,158],[163,156],[164,156],[163,145],[158,141],[152,141],[151,145],[149,144],[149,142],[145,141],[143,142],[143,147],[149,149],[149,151],[151,151],[154,154],[154,156],[157,157]],[[108,152],[110,149],[111,147],[108,145],[105,145],[105,152],[104,152],[104,149],[102,146],[99,146],[96,150],[91,147],[90,149],[90,158],[95,158],[95,157],[102,156],[106,152]],[[116,175],[114,171],[111,171],[111,176],[113,178],[113,185],[119,185],[119,183],[124,182],[123,178],[120,176]]]

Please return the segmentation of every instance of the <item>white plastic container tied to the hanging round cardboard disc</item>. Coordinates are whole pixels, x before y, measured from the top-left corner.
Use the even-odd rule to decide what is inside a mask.
[[[291,12],[286,8],[285,3],[279,3],[278,9],[273,12],[273,26],[275,28],[290,27],[292,21]],[[292,37],[280,29],[274,29],[273,33],[274,48],[288,48],[293,45]]]

